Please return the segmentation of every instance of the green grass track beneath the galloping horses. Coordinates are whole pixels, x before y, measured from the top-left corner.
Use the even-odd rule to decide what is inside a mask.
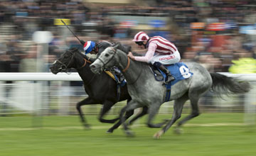
[[[112,124],[86,117],[91,130],[81,127],[78,116],[0,117],[0,156],[256,155],[256,128],[245,124],[243,113],[201,114],[183,127],[183,134],[170,128],[159,140],[152,138],[159,129],[147,128],[146,118],[134,123],[136,136],[127,138],[122,128],[107,134]],[[156,122],[170,117],[159,115]]]

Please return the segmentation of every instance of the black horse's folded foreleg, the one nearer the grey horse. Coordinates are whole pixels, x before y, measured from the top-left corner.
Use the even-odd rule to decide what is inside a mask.
[[[100,116],[99,116],[99,120],[102,123],[115,123],[117,120],[119,120],[119,118],[114,118],[112,120],[107,120],[104,119],[103,116],[105,115],[105,113],[107,113],[108,111],[110,111],[110,108],[114,105],[115,103],[113,101],[104,101],[102,109],[100,111]]]

